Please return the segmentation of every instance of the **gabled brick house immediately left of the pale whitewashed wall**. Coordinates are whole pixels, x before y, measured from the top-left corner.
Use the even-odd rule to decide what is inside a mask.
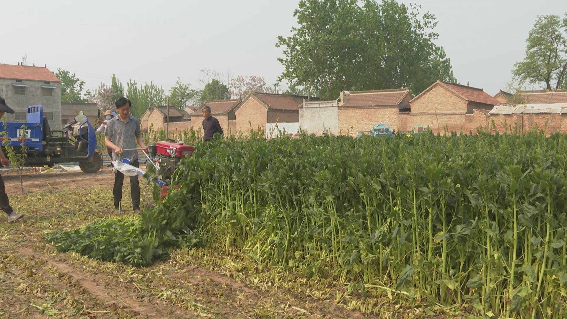
[[[299,123],[299,105],[307,96],[251,93],[235,109],[236,131],[266,130],[268,123]],[[318,100],[318,98],[311,98]]]

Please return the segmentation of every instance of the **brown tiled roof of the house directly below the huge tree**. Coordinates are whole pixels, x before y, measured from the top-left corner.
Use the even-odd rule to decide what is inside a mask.
[[[345,101],[340,106],[398,106],[407,94],[407,87],[394,90],[350,91],[345,94]]]

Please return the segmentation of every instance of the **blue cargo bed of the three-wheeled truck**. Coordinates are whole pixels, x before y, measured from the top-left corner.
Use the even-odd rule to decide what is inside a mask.
[[[26,123],[6,122],[12,146],[19,146],[24,135],[22,125],[26,125],[26,146],[28,152],[43,150],[43,106],[28,106]],[[3,138],[0,138],[3,141]]]

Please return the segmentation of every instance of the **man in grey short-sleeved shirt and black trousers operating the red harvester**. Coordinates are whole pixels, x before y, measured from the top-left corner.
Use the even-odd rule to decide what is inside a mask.
[[[140,131],[140,123],[136,117],[130,115],[132,102],[129,99],[119,98],[115,104],[118,116],[108,121],[107,128],[104,131],[104,144],[112,150],[113,161],[120,161],[120,159],[126,158],[130,160],[131,165],[139,167],[138,151],[128,149],[135,149],[136,142],[140,148],[146,149]],[[116,171],[113,195],[114,207],[117,211],[122,211],[122,183],[124,183],[124,174]],[[138,175],[130,176],[130,191],[132,192],[134,213],[139,213],[140,186]]]

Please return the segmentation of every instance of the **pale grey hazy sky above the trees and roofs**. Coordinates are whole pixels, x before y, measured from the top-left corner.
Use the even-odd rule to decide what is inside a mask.
[[[261,75],[272,84],[283,70],[276,37],[290,34],[297,3],[1,0],[0,63],[17,64],[27,53],[28,65],[75,72],[86,89],[109,83],[112,73],[122,82],[154,81],[166,90],[177,77],[201,87],[204,68]],[[491,95],[505,89],[514,62],[522,60],[536,15],[567,12],[564,0],[414,3],[437,16],[437,43],[458,81]]]

